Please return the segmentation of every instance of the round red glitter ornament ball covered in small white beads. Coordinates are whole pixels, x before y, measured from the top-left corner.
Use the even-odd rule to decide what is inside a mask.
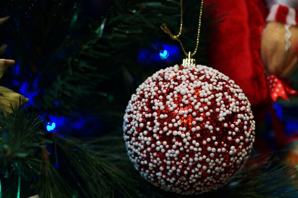
[[[132,95],[124,140],[141,175],[184,195],[223,186],[249,157],[255,121],[227,76],[203,65],[168,67]]]

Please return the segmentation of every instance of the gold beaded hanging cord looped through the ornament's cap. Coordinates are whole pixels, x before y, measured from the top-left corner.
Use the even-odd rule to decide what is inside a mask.
[[[182,33],[182,26],[183,26],[183,6],[182,6],[182,0],[180,0],[180,13],[181,13],[181,17],[180,17],[180,29],[179,29],[179,33],[177,35],[173,35],[171,33],[171,31],[168,29],[168,27],[166,27],[165,24],[162,24],[160,26],[161,30],[163,30],[166,34],[168,34],[171,39],[176,40],[180,43],[181,48],[185,54],[185,56],[187,57],[187,59],[191,59],[191,57],[193,57],[196,53],[197,50],[199,48],[199,38],[200,38],[200,31],[201,31],[201,21],[202,21],[202,13],[203,13],[203,4],[204,4],[204,0],[201,1],[201,8],[200,8],[200,16],[199,16],[199,25],[198,25],[198,35],[197,35],[197,42],[196,42],[196,48],[193,52],[186,52],[183,44],[181,42],[181,40],[179,39],[181,33]],[[184,60],[183,60],[184,61]]]

